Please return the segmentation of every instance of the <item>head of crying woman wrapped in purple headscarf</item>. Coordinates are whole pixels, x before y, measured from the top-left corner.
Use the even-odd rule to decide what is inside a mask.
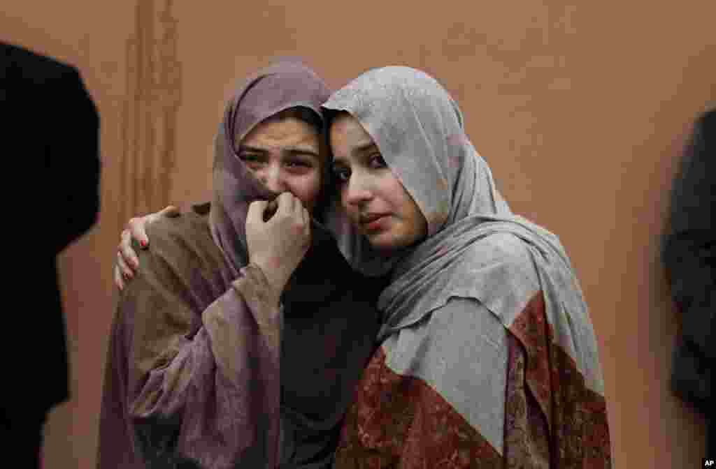
[[[231,274],[248,262],[246,215],[256,200],[281,192],[321,212],[326,145],[321,104],[330,90],[299,60],[259,70],[228,100],[214,140],[211,233]]]

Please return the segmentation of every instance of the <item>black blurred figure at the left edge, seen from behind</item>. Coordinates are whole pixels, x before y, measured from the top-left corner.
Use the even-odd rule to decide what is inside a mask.
[[[4,186],[19,183],[4,226],[32,240],[6,250],[22,260],[5,275],[0,438],[13,467],[37,468],[47,413],[69,397],[56,257],[97,220],[99,117],[77,69],[0,43],[0,122]]]

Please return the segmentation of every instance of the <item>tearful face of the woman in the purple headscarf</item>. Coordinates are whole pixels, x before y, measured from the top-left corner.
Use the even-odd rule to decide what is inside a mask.
[[[313,213],[321,192],[319,134],[295,117],[271,117],[236,144],[238,157],[269,190],[291,192]]]

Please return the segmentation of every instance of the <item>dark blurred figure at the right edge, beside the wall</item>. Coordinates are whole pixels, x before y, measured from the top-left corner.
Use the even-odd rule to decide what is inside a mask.
[[[662,260],[680,319],[672,390],[707,419],[707,457],[716,455],[716,109],[697,119],[672,189]]]

